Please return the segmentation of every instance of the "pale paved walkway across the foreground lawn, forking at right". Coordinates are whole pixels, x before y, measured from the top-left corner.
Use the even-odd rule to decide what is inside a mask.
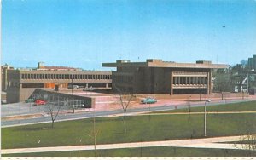
[[[148,142],[133,142],[96,145],[97,150],[118,149],[118,148],[137,148],[150,146],[174,146],[174,147],[192,147],[192,148],[220,148],[220,149],[237,149],[233,144],[218,143],[238,141],[241,136],[215,137],[203,139],[189,140],[165,140],[165,141],[148,141]],[[93,145],[89,146],[53,146],[53,147],[37,147],[37,148],[18,148],[2,150],[2,154],[10,153],[30,153],[30,152],[46,152],[46,151],[81,151],[94,150]]]

